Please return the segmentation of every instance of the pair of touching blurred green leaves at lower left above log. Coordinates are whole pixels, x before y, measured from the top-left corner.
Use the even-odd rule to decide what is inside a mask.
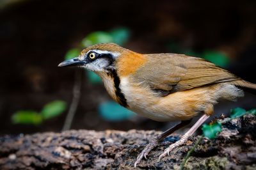
[[[17,111],[12,115],[12,123],[40,125],[44,120],[59,116],[67,109],[66,102],[55,100],[45,104],[41,112]]]

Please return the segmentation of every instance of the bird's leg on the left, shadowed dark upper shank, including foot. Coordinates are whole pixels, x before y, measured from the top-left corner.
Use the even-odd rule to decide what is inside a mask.
[[[143,157],[147,158],[148,153],[157,146],[157,144],[159,143],[159,141],[162,141],[165,137],[167,137],[168,135],[172,134],[175,130],[178,130],[179,128],[182,128],[186,125],[188,125],[191,122],[191,120],[186,120],[186,121],[181,121],[179,124],[175,125],[174,127],[166,130],[165,132],[163,132],[163,134],[157,135],[156,137],[154,137],[148,144],[147,146],[144,148],[143,151],[141,151],[140,155],[138,155],[137,160],[134,164],[134,167],[137,166],[137,164],[140,164],[140,161]]]

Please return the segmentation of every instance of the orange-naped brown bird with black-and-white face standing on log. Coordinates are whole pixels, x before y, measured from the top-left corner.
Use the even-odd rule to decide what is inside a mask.
[[[184,54],[140,54],[115,43],[99,43],[83,49],[77,58],[58,66],[79,66],[100,76],[109,95],[118,104],[155,121],[180,121],[156,135],[136,158],[134,167],[165,137],[202,115],[180,140],[159,156],[186,143],[205,120],[214,114],[219,100],[236,101],[243,89],[256,91],[256,84],[202,58]]]

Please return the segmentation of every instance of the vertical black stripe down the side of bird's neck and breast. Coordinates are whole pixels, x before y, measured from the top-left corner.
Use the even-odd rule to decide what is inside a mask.
[[[124,97],[124,93],[122,93],[121,89],[120,89],[120,78],[118,77],[116,70],[108,70],[109,73],[108,75],[110,75],[113,79],[114,79],[114,86],[115,86],[115,93],[116,93],[116,97],[119,99],[119,104],[124,106],[124,107],[128,107],[126,98]]]

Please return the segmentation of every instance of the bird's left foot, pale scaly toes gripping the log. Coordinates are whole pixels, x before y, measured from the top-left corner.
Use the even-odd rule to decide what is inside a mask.
[[[157,146],[158,142],[159,142],[159,135],[154,137],[150,141],[150,143],[147,144],[147,146],[144,148],[144,150],[141,151],[140,155],[138,155],[138,157],[137,157],[136,162],[134,163],[134,167],[136,167],[138,164],[140,164],[143,157],[145,157],[147,159],[148,153]]]

